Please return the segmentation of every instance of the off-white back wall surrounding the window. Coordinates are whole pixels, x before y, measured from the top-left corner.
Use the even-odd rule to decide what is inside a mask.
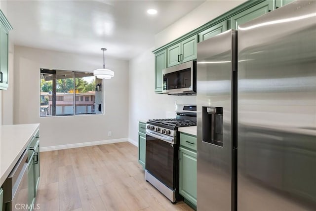
[[[41,147],[128,138],[128,61],[106,59],[115,72],[104,80],[105,114],[40,118],[40,68],[92,72],[102,54],[89,56],[14,46],[14,124],[40,123]],[[112,136],[108,136],[112,131]]]

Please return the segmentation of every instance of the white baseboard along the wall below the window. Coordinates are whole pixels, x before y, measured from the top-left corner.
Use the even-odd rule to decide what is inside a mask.
[[[77,143],[77,144],[65,144],[65,145],[57,145],[57,146],[51,146],[51,147],[40,147],[40,151],[46,152],[46,151],[94,146],[94,145],[101,145],[101,144],[112,144],[112,143],[118,143],[118,142],[126,142],[129,140],[130,140],[129,138],[118,138],[118,139],[103,140],[103,141],[91,141],[91,142],[84,142],[84,143]],[[133,142],[131,143],[134,144]]]

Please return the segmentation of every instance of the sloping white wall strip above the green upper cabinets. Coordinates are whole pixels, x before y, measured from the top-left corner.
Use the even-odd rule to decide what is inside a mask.
[[[155,36],[155,47],[161,47],[171,42],[214,18],[233,9],[246,0],[207,0],[180,18]]]

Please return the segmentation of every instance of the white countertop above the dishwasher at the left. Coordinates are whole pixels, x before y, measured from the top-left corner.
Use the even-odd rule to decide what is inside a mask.
[[[39,127],[40,124],[0,126],[0,186]]]

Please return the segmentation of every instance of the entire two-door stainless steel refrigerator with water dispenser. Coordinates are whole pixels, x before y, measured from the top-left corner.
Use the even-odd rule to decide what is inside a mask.
[[[197,44],[197,210],[316,210],[316,1]]]

